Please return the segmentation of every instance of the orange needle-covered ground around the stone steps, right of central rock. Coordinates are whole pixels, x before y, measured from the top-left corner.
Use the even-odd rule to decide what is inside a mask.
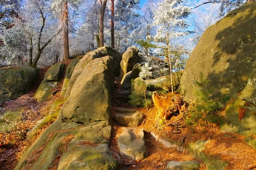
[[[120,86],[116,87],[116,94],[120,90]],[[145,133],[145,144],[148,150],[148,157],[142,161],[134,161],[122,156],[118,149],[117,138],[122,133],[122,127],[113,123],[112,138],[110,150],[116,153],[122,160],[122,170],[165,170],[169,161],[198,161],[201,164],[200,170],[206,170],[204,162],[195,159],[188,150],[189,143],[198,140],[210,140],[205,146],[204,154],[211,159],[221,159],[227,162],[226,170],[251,170],[248,166],[256,164],[256,150],[250,147],[245,142],[245,136],[238,133],[223,133],[218,125],[210,123],[197,127],[191,127],[185,124],[182,120],[183,127],[181,133],[172,133],[170,130],[170,122],[176,122],[183,119],[183,116],[172,116],[163,131],[157,130],[154,127],[154,120],[157,109],[152,107],[147,110],[144,107],[130,107],[126,102],[113,102],[113,114],[115,107],[123,107],[127,109],[136,109],[143,113],[144,121],[139,129],[143,128]],[[156,134],[159,138],[169,139],[171,141],[180,142],[184,137],[185,142],[182,144],[183,150],[177,150],[175,147],[167,147],[160,143],[152,135]],[[256,136],[254,136],[256,138]],[[116,154],[113,154],[115,156]]]

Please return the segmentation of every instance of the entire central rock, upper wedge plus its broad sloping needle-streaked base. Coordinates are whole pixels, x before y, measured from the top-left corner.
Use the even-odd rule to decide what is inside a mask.
[[[116,170],[118,163],[108,149],[113,78],[112,57],[84,66],[57,121],[44,130],[15,170]]]

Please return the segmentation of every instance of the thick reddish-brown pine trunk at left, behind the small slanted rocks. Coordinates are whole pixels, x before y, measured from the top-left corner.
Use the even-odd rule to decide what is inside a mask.
[[[63,44],[64,44],[64,57],[63,60],[67,60],[69,55],[69,42],[68,42],[68,10],[67,10],[67,1],[64,3],[64,10],[63,10],[63,23],[64,23],[64,30],[63,30]]]

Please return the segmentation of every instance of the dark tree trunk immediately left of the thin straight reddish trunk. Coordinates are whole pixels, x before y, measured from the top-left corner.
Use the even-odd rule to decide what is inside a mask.
[[[99,18],[99,47],[104,46],[104,15],[107,5],[107,0],[100,0],[101,9],[100,9],[100,18]]]

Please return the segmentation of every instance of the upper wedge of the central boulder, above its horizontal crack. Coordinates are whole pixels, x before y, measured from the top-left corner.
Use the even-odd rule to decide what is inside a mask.
[[[58,118],[84,124],[109,121],[113,83],[113,58],[94,59],[78,76]]]

